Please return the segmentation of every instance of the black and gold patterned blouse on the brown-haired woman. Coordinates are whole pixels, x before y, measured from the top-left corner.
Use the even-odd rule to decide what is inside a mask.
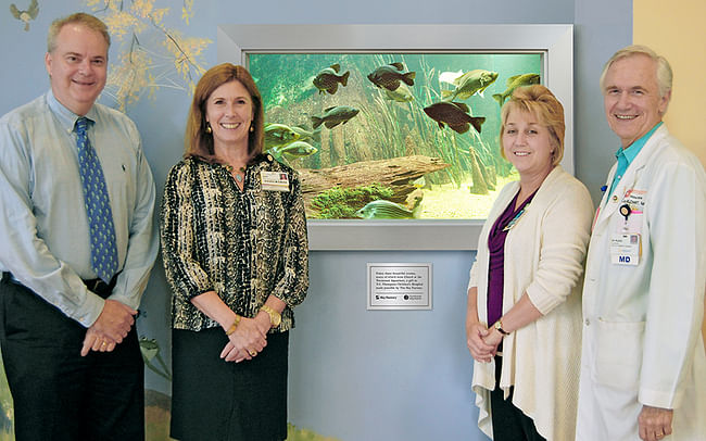
[[[263,190],[263,171],[286,173],[289,191]],[[292,308],[308,288],[306,218],[293,169],[260,155],[241,191],[225,165],[187,158],[167,176],[161,235],[174,328],[217,327],[190,301],[212,290],[244,317],[273,294],[287,303],[276,331],[293,328]]]

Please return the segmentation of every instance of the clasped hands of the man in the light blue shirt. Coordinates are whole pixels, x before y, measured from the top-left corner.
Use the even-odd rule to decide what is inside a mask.
[[[80,355],[90,351],[111,352],[123,342],[135,324],[137,311],[116,300],[105,300],[103,311],[86,331]]]

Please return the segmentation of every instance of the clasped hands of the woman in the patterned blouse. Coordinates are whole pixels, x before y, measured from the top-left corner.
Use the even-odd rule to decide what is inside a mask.
[[[267,345],[269,328],[269,315],[266,313],[260,313],[255,318],[242,317],[236,330],[228,336],[220,358],[236,363],[252,360]]]

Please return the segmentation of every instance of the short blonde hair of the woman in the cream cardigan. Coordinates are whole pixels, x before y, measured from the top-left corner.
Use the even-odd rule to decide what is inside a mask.
[[[503,134],[507,116],[513,111],[526,112],[534,115],[540,124],[550,130],[550,136],[554,141],[552,153],[552,165],[556,166],[564,158],[564,134],[566,126],[564,124],[564,106],[556,99],[554,93],[542,85],[518,87],[513,91],[510,99],[503,105],[501,111],[500,126],[500,152],[505,158],[503,149]],[[505,158],[507,159],[507,158]]]

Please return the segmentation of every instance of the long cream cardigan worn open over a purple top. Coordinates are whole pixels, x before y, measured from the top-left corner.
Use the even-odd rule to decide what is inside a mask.
[[[490,211],[478,241],[468,287],[478,288],[478,315],[487,324],[488,235],[519,190],[506,185]],[[542,313],[506,336],[500,385],[547,441],[572,440],[581,357],[581,279],[593,202],[585,186],[556,166],[505,240],[503,314],[525,292]],[[492,324],[491,324],[492,325]],[[480,408],[478,427],[492,434],[490,391],[495,363],[474,363],[472,390]]]

